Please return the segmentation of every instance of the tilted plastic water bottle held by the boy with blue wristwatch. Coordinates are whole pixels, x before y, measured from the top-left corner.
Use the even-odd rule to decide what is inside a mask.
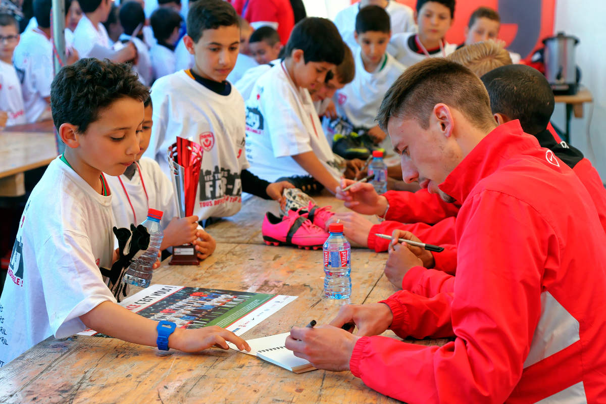
[[[162,237],[164,237],[160,219],[162,219],[161,210],[150,209],[147,211],[147,219],[142,225],[147,228],[147,232],[150,234],[149,247],[137,259],[133,259],[126,274],[124,274],[122,282],[142,288],[147,288],[150,285],[153,264],[158,260],[158,252],[160,251]]]

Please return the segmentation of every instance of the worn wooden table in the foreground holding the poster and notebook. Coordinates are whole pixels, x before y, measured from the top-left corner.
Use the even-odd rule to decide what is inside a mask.
[[[330,197],[336,210],[345,208]],[[299,296],[242,337],[284,333],[338,310],[322,299],[322,251],[268,247],[260,241],[262,213],[273,201],[248,200],[238,215],[208,227],[218,242],[199,267],[162,265],[154,283]],[[377,302],[395,289],[383,276],[385,254],[351,253],[352,303]],[[386,335],[391,335],[387,331]],[[421,341],[425,345],[445,340]],[[349,372],[294,374],[245,354],[207,349],[185,354],[99,337],[49,337],[0,368],[0,403],[391,403]]]

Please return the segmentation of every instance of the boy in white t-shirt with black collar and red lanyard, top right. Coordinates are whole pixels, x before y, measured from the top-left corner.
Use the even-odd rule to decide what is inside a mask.
[[[398,33],[391,36],[387,52],[405,67],[425,58],[446,57],[456,45],[444,39],[452,25],[455,0],[418,0],[415,21],[418,33]]]

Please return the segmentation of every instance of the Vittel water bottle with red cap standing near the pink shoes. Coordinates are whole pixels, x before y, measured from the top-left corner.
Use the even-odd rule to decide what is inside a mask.
[[[351,245],[343,236],[343,225],[331,223],[324,253],[324,296],[349,299],[351,296]]]

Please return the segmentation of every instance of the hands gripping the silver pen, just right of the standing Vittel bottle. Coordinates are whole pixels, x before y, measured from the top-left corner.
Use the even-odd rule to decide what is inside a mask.
[[[390,247],[387,248],[389,257],[387,258],[387,263],[385,263],[385,276],[396,288],[401,289],[402,280],[410,268],[433,268],[435,262],[431,251],[416,247],[415,245],[399,243],[398,239],[418,242],[421,242],[421,240],[415,234],[410,233],[410,231],[394,230],[393,234],[391,234]]]

